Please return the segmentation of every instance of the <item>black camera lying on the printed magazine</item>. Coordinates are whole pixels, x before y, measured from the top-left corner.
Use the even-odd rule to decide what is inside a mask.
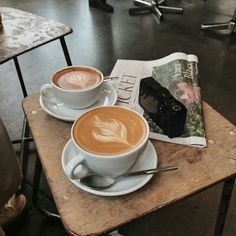
[[[141,80],[139,104],[169,138],[183,134],[186,107],[154,78],[147,77]]]

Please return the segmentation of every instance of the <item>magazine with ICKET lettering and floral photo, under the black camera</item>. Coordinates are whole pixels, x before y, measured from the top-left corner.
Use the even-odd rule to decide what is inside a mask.
[[[117,60],[111,75],[118,92],[117,105],[129,107],[147,120],[150,138],[161,141],[205,147],[205,128],[199,86],[198,58],[176,52],[153,61]],[[184,132],[169,138],[139,105],[139,85],[142,78],[152,76],[187,108]]]

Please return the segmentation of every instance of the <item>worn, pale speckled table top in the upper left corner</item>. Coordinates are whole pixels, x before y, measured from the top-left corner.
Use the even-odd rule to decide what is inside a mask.
[[[35,14],[0,7],[3,29],[0,30],[0,64],[38,46],[72,33],[72,29]]]

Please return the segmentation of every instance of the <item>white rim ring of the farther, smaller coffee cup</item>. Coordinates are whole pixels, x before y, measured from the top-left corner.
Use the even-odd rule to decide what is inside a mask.
[[[93,70],[93,71],[96,71],[98,74],[100,74],[100,76],[101,76],[101,81],[100,81],[98,84],[95,84],[94,86],[91,86],[91,87],[89,87],[89,88],[87,88],[87,89],[73,89],[73,90],[72,90],[72,89],[63,89],[63,88],[57,86],[56,84],[54,84],[53,78],[54,78],[54,76],[55,76],[57,73],[59,73],[59,72],[61,72],[61,71],[63,71],[63,70],[66,70],[66,69],[71,69],[71,68],[77,68],[77,69],[78,69],[78,68],[86,68],[86,69],[91,69],[91,70]],[[70,92],[70,93],[78,93],[78,92],[83,93],[83,92],[90,91],[90,90],[92,90],[92,89],[94,89],[94,88],[99,87],[99,86],[103,83],[103,81],[104,81],[104,75],[103,75],[103,73],[102,73],[100,70],[98,70],[98,69],[96,69],[96,68],[94,68],[94,67],[91,67],[91,66],[83,66],[83,65],[66,66],[66,67],[63,67],[63,68],[61,68],[60,70],[55,71],[55,72],[53,73],[53,75],[51,76],[51,85],[52,85],[54,88],[56,88],[56,89],[58,89],[58,90],[61,90],[61,91]]]

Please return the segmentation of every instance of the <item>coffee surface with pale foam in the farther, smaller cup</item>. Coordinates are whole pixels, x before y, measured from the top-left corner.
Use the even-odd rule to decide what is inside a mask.
[[[60,88],[83,90],[100,83],[101,75],[90,68],[72,67],[57,72],[53,82]]]

